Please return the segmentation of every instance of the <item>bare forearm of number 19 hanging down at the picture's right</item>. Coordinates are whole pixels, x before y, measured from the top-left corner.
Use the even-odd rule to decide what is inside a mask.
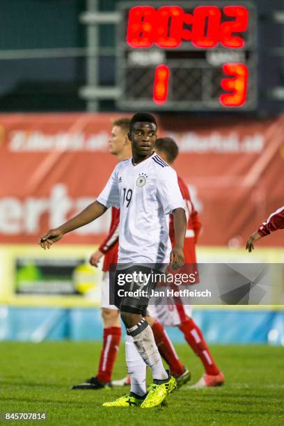
[[[173,210],[173,226],[175,228],[175,247],[171,251],[170,260],[173,267],[182,267],[184,265],[184,237],[187,231],[187,216],[181,207]]]

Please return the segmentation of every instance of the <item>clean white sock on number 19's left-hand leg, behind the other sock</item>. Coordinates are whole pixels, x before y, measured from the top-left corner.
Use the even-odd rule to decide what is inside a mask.
[[[127,371],[130,375],[130,391],[143,396],[146,393],[146,364],[134,345],[132,336],[126,336],[125,356]]]

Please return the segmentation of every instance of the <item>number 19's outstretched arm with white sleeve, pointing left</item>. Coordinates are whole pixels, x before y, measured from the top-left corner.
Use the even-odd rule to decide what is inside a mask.
[[[119,207],[118,166],[111,173],[107,185],[102,190],[100,196],[97,197],[97,200],[88,205],[77,216],[58,226],[58,228],[51,229],[45,235],[42,235],[39,242],[40,246],[44,249],[49,248],[52,244],[58,242],[63,235],[94,221],[112,206]]]

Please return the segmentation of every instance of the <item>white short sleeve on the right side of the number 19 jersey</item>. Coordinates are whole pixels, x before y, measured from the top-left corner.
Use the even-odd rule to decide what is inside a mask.
[[[185,210],[182,193],[178,186],[177,173],[170,166],[161,168],[157,174],[157,195],[165,214],[178,208]]]

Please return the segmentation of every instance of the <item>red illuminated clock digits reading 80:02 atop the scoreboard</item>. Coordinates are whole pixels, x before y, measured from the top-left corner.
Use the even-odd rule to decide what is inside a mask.
[[[223,14],[227,21],[221,22]],[[231,20],[231,18],[234,18]],[[190,25],[191,29],[184,28]],[[246,6],[197,6],[184,13],[180,6],[134,6],[129,10],[127,44],[146,48],[156,45],[175,49],[190,41],[195,47],[211,49],[219,43],[228,49],[244,47],[242,33],[248,29]]]

